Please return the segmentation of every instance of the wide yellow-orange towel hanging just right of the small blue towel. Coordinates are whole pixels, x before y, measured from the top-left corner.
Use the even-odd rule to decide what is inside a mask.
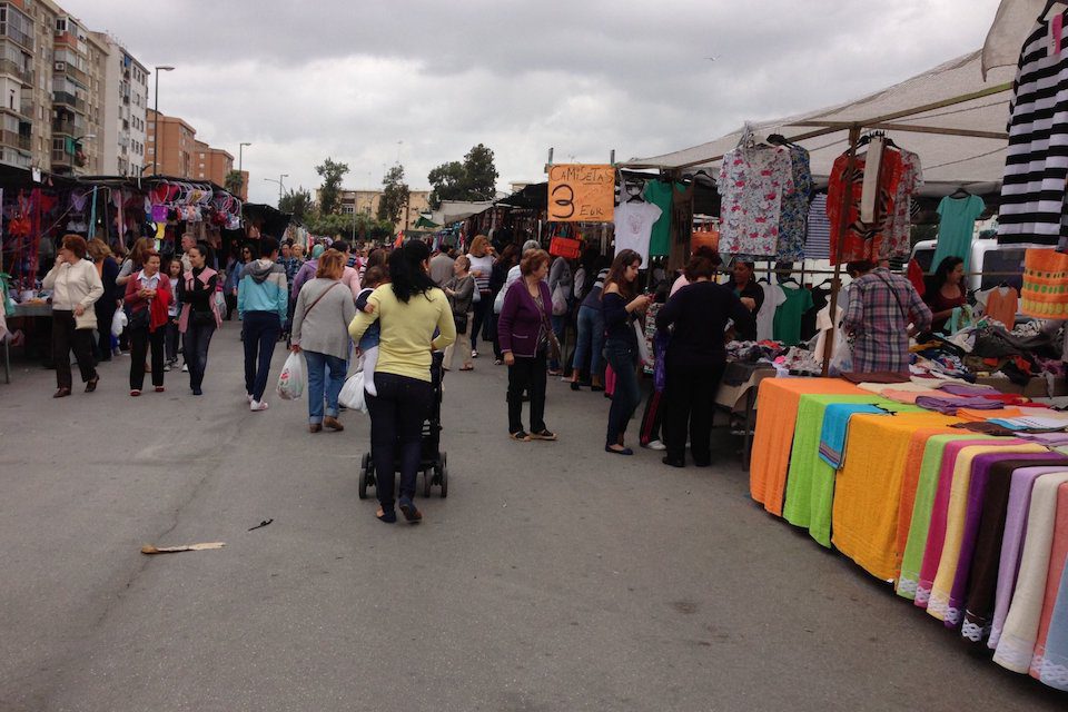
[[[901,570],[898,520],[912,434],[956,422],[940,413],[850,418],[846,466],[834,484],[831,542],[871,575],[890,581]]]

